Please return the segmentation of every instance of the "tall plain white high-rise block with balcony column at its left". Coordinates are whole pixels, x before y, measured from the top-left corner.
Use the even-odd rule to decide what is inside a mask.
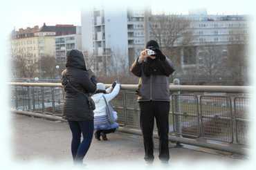
[[[127,39],[126,10],[94,8],[82,12],[82,49],[87,57],[94,57],[95,71],[108,73],[113,66],[127,67]]]

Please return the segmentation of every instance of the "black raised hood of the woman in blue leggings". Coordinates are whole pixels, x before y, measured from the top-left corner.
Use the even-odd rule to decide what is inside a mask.
[[[66,68],[74,67],[86,70],[84,55],[80,50],[69,50],[66,53]]]

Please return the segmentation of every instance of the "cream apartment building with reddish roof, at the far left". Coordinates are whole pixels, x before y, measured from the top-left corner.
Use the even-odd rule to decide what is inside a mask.
[[[66,47],[69,48],[81,48],[77,45],[80,44],[80,37],[74,37],[76,32],[80,31],[73,25],[60,25],[46,26],[46,23],[39,28],[35,26],[33,28],[20,28],[19,30],[12,31],[11,39],[11,53],[12,57],[22,57],[24,59],[27,68],[35,66],[35,73],[41,74],[41,64],[40,58],[45,56],[55,57],[55,37],[66,36],[67,39]],[[68,37],[68,35],[71,35]],[[68,40],[69,39],[69,40]],[[75,39],[75,46],[73,46],[72,41]],[[59,44],[57,44],[59,46]],[[60,51],[57,50],[57,53]]]

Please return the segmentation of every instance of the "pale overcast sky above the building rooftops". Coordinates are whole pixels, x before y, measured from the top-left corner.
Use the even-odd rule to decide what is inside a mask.
[[[121,3],[120,3],[121,2]],[[104,3],[107,6],[113,7],[113,10],[117,10],[118,6],[132,6],[132,7],[142,7],[151,6],[154,11],[169,11],[176,14],[188,14],[189,10],[194,10],[198,8],[206,8],[208,14],[250,14],[253,12],[253,1],[235,1],[235,0],[212,0],[212,1],[202,1],[202,0],[93,0],[93,2],[80,1],[80,0],[44,0],[44,1],[6,1],[6,5],[11,11],[8,10],[8,23],[12,28],[26,28],[28,26],[32,27],[35,25],[42,26],[45,22],[46,25],[59,24],[81,24],[81,10],[90,8],[93,5],[98,5]],[[3,10],[5,10],[3,8]]]

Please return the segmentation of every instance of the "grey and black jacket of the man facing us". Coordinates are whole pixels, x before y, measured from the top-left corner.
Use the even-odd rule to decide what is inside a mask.
[[[131,73],[140,77],[140,84],[138,89],[138,102],[144,101],[170,101],[169,91],[169,76],[174,72],[172,62],[167,57],[158,61],[161,63],[161,72],[163,75],[149,76],[145,75],[143,65],[145,62],[138,63],[138,59],[131,65]]]

